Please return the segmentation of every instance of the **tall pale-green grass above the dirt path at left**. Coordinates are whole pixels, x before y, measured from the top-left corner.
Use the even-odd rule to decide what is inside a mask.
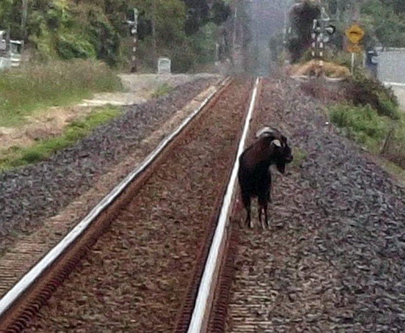
[[[28,64],[0,75],[0,126],[48,106],[66,105],[93,93],[121,90],[120,79],[104,63],[90,60]]]

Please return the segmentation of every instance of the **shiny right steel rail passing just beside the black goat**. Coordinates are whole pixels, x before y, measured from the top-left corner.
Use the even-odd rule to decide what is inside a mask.
[[[212,244],[210,247],[210,252],[207,258],[207,262],[204,268],[204,273],[201,278],[200,286],[198,288],[197,297],[194,304],[194,309],[192,317],[190,320],[190,325],[188,328],[188,333],[200,333],[203,330],[204,319],[208,315],[210,309],[209,299],[212,293],[212,284],[214,283],[214,275],[217,267],[217,263],[220,261],[220,248],[224,241],[225,230],[227,226],[229,210],[232,203],[232,197],[236,184],[237,172],[239,169],[239,157],[243,152],[245,147],[245,141],[247,138],[249,125],[252,119],[253,109],[257,96],[257,89],[259,85],[260,78],[256,79],[253,94],[251,98],[251,103],[249,111],[245,120],[242,136],[239,141],[238,151],[236,154],[235,162],[233,165],[230,181],[227,186],[227,191],[224,196],[223,205],[221,207],[221,212],[218,217],[218,223],[215,229],[215,234],[212,238]]]

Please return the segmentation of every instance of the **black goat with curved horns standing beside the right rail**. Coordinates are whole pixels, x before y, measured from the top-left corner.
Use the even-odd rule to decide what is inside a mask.
[[[267,205],[270,201],[271,174],[269,167],[275,164],[284,174],[286,164],[293,160],[287,137],[278,130],[265,127],[256,133],[258,138],[239,157],[238,180],[242,202],[247,211],[245,223],[251,227],[251,198],[257,196],[259,220],[262,224],[264,211],[266,225],[269,226]]]

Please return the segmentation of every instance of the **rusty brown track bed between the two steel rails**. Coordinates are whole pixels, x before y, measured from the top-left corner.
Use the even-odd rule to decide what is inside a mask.
[[[251,86],[251,80],[234,79],[223,88],[0,319],[2,332],[22,331],[43,305],[25,332],[173,328],[214,228]],[[182,274],[173,276],[176,271]]]

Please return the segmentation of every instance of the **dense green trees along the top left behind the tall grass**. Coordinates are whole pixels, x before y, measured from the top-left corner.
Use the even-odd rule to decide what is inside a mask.
[[[10,28],[12,38],[24,37],[21,6],[21,0],[0,0],[0,29]],[[30,0],[26,41],[41,59],[96,58],[113,66],[125,64],[130,29],[124,21],[133,7],[140,14],[141,63],[154,66],[151,55],[169,56],[174,70],[213,60],[218,25],[230,14],[224,0]]]

